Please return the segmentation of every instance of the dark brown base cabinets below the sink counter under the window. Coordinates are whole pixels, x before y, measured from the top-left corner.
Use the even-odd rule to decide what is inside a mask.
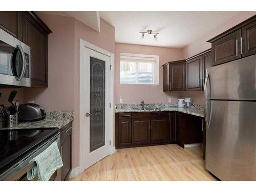
[[[116,148],[173,142],[168,112],[119,113],[115,118]]]

